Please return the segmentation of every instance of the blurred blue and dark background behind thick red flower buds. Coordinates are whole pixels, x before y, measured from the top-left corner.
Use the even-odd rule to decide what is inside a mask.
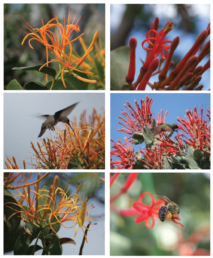
[[[110,8],[111,50],[128,45],[132,36],[137,39],[135,78],[139,75],[142,66],[141,60],[145,61],[146,59],[146,51],[142,48],[141,43],[146,39],[150,23],[156,16],[159,17],[158,32],[163,29],[168,20],[174,22],[173,30],[169,32],[165,40],[180,37],[179,45],[173,54],[172,60],[175,61],[173,69],[189,51],[200,32],[206,29],[210,23],[210,4],[111,4]],[[209,39],[210,36],[207,40]],[[199,51],[196,55],[200,53]],[[210,54],[199,65],[203,66],[209,58]],[[154,78],[155,76],[153,76]],[[203,90],[210,88],[210,69],[204,73],[201,82],[204,84]]]

